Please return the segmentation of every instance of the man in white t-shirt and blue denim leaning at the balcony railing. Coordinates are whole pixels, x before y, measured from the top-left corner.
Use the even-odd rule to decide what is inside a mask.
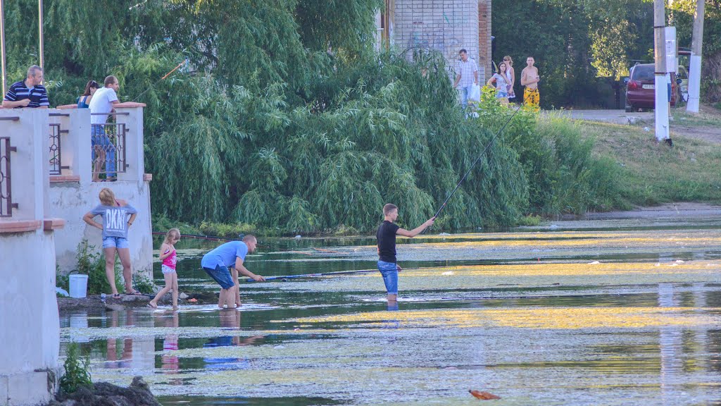
[[[105,180],[115,181],[115,144],[105,134],[105,123],[112,113],[112,106],[118,101],[118,78],[109,76],[105,78],[105,87],[98,89],[90,100],[90,127],[93,151],[92,180],[99,181],[98,173],[105,161]],[[107,157],[107,160],[106,160]]]

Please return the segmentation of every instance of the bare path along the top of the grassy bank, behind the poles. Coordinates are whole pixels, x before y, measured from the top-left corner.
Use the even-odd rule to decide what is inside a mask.
[[[683,108],[682,108],[683,109]],[[577,120],[600,121],[609,124],[632,124],[636,126],[648,126],[653,131],[654,112],[644,111],[641,113],[626,113],[623,110],[559,110],[554,113],[567,116]],[[671,131],[682,137],[700,139],[707,142],[721,144],[721,126],[704,124],[685,124],[693,118],[685,110],[672,109]],[[714,108],[702,106],[701,116],[703,118],[720,119],[721,113]]]

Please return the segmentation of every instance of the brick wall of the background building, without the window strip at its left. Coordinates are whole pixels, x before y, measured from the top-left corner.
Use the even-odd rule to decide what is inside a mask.
[[[479,50],[479,9],[481,2],[490,0],[395,0],[393,21],[393,42],[395,48],[430,48],[441,51],[448,66],[453,69],[458,61],[461,48],[479,66],[479,80],[485,77],[488,50]],[[490,32],[490,20],[484,27]],[[411,55],[408,51],[407,55]],[[452,72],[449,72],[452,77]]]

